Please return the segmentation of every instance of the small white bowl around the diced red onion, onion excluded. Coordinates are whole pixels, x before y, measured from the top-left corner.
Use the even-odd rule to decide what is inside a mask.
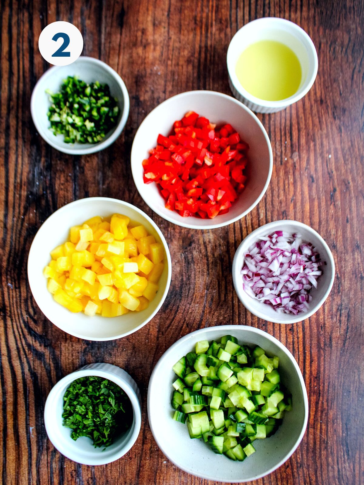
[[[244,264],[245,255],[248,249],[262,236],[272,234],[274,231],[286,231],[289,234],[298,233],[305,242],[311,242],[320,254],[320,258],[326,262],[323,267],[323,274],[317,280],[317,288],[310,294],[312,300],[307,311],[293,315],[290,313],[278,313],[273,307],[252,298],[243,290],[243,278],[241,269]],[[335,279],[335,262],[329,246],[323,238],[310,226],[298,221],[274,221],[264,226],[258,227],[251,232],[239,245],[232,261],[232,281],[235,291],[242,304],[258,318],[273,323],[298,323],[311,317],[325,302],[329,296]]]

